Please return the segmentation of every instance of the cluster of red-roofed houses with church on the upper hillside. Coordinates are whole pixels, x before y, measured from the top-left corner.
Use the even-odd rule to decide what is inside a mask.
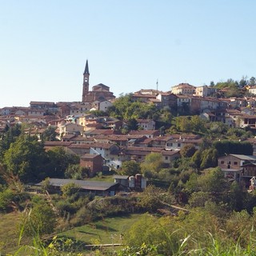
[[[228,128],[254,133],[254,80],[250,79],[251,86],[245,80],[242,80],[242,86],[228,81],[226,84],[230,83],[230,88],[180,83],[167,92],[142,89],[130,93],[126,98],[165,111],[165,118],[189,116],[190,119],[197,116],[201,121],[222,123]],[[112,108],[112,113],[117,111],[113,106],[118,98],[109,86],[102,83],[90,90],[89,82],[90,72],[86,61],[81,102],[31,101],[29,107],[3,107],[0,109],[0,132],[6,126],[26,125],[26,133],[37,136],[41,141],[42,134],[51,128],[55,132],[54,138],[44,140],[45,149],[62,146],[72,154],[78,154],[82,166],[90,168],[91,176],[104,168],[118,170],[125,161],[143,162],[150,153],[161,154],[164,164],[170,166],[170,162],[180,158],[180,150],[184,146],[193,145],[196,150],[200,148],[203,136],[198,133],[199,130],[171,130],[171,120],[165,123],[152,114],[144,114],[145,118],[139,114],[138,118],[131,118],[135,119],[133,126],[130,126],[129,118],[120,118],[116,113],[111,116],[108,110]],[[232,90],[237,90],[236,97],[229,97]],[[241,138],[238,139],[241,141]],[[242,140],[250,142],[256,154],[254,136]],[[250,176],[252,178],[254,174]]]

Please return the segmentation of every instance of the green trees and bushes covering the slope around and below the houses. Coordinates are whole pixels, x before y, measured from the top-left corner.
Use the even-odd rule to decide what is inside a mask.
[[[217,95],[221,97],[244,94],[242,88],[252,83],[253,78],[212,86],[229,89]],[[174,117],[174,110],[160,110],[134,100],[131,94],[114,102],[107,114],[125,121],[122,132],[141,130],[137,120],[149,118],[161,127],[161,134],[200,134],[203,139],[197,147],[184,146],[181,158],[170,165],[164,164],[158,153],[146,155],[142,163],[123,162],[118,174],[144,174],[150,185],[140,193],[109,198],[84,194],[73,182],[62,186],[59,194],[49,194],[49,178],[84,179],[88,170],[78,166],[78,156],[62,147],[44,149],[44,140],[56,138],[54,129],[47,129],[38,141],[22,126],[6,126],[0,135],[0,212],[23,212],[20,240],[32,237],[38,255],[41,251],[45,255],[61,255],[63,251],[74,255],[72,241],[51,235],[131,213],[142,214],[142,218],[127,228],[123,240],[126,246],[117,255],[254,255],[256,194],[248,192],[242,183],[226,180],[216,167],[218,157],[225,154],[253,154],[252,145],[243,140],[254,132],[185,115],[189,112],[182,106],[181,115]],[[31,189],[38,194],[31,193],[28,184],[42,179],[42,190]]]

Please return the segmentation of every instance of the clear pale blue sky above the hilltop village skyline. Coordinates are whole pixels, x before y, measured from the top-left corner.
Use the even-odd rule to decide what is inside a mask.
[[[0,107],[256,77],[254,0],[0,0]]]

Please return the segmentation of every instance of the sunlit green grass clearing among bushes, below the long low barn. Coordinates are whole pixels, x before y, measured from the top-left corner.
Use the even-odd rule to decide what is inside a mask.
[[[86,244],[122,243],[122,234],[138,219],[139,214],[126,217],[104,218],[85,226],[58,234]]]

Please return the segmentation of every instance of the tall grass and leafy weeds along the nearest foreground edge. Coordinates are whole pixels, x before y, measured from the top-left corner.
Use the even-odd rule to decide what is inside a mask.
[[[171,234],[174,235],[174,234]],[[99,250],[95,250],[94,252],[90,252],[90,255],[98,255],[98,256],[106,256],[106,255],[118,255],[118,256],[255,256],[256,248],[255,248],[255,240],[250,238],[248,241],[248,245],[246,247],[242,247],[238,242],[236,243],[224,243],[220,241],[218,238],[214,238],[214,236],[210,233],[206,234],[207,246],[202,246],[201,242],[196,241],[193,238],[193,235],[187,235],[186,238],[181,239],[178,242],[178,245],[174,245],[173,249],[166,252],[159,252],[157,245],[146,245],[142,244],[142,246],[138,247],[130,247],[126,246],[122,250],[115,249],[109,252],[102,253]],[[68,250],[69,244],[68,242],[64,242],[62,245],[62,250],[57,246],[58,238],[55,237],[52,242],[48,246],[44,245],[40,238],[33,238],[33,244],[28,246],[21,246],[13,256],[60,256],[60,255],[88,255],[88,252],[70,252]],[[171,240],[171,238],[170,238]],[[191,241],[192,240],[192,241]],[[196,246],[194,249],[190,249],[190,242],[194,243]]]

